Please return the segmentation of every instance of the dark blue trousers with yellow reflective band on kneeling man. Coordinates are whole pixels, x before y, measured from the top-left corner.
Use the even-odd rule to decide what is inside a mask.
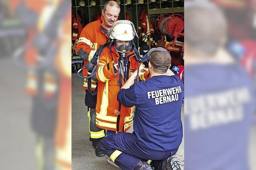
[[[116,133],[104,137],[100,148],[122,170],[134,170],[140,160],[163,160],[171,156],[173,151],[156,151],[139,146],[132,133]]]

